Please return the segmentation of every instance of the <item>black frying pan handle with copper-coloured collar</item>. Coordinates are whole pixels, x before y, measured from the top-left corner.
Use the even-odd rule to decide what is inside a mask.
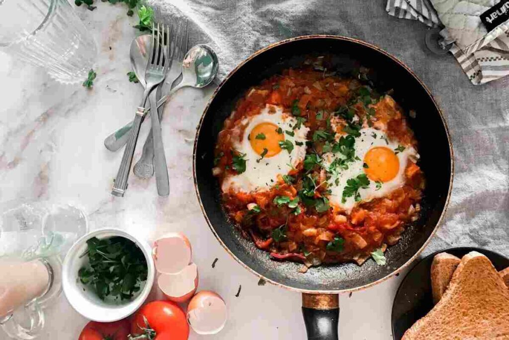
[[[302,294],[308,340],[338,340],[340,302],[337,294]]]

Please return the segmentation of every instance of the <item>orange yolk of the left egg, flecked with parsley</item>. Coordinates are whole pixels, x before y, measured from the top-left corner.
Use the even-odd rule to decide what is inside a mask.
[[[285,135],[278,133],[279,127],[273,123],[260,123],[251,130],[249,142],[254,152],[265,158],[275,156],[281,152],[279,142],[285,140]],[[265,151],[267,150],[267,151]]]

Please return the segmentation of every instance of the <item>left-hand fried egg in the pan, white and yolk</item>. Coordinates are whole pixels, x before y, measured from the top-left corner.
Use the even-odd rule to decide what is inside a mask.
[[[246,160],[246,170],[225,177],[222,191],[264,191],[277,183],[278,175],[286,175],[304,160],[306,135],[304,125],[283,112],[281,107],[267,104],[258,115],[244,118],[233,135],[233,148]]]

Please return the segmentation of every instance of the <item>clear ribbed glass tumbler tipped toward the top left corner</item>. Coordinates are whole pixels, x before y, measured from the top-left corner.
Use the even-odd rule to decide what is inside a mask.
[[[97,57],[94,38],[67,0],[0,0],[0,49],[64,84],[87,79]]]

